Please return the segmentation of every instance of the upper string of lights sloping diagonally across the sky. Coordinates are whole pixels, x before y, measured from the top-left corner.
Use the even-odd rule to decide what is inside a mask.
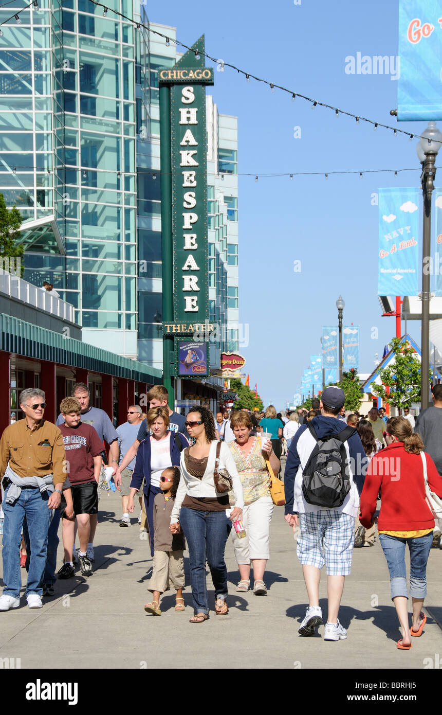
[[[200,54],[202,54],[206,59],[209,59],[211,62],[214,62],[215,64],[220,64],[221,60],[216,59],[215,57],[212,57],[210,54],[207,52],[199,52],[192,50],[189,45],[184,44],[184,42],[181,42],[177,39],[174,39],[173,37],[168,37],[162,32],[159,32],[158,30],[151,29],[149,25],[145,25],[142,22],[136,21],[131,17],[128,17],[127,15],[124,15],[123,13],[114,10],[110,7],[107,7],[106,5],[98,2],[97,0],[89,0],[92,4],[96,5],[97,7],[102,7],[104,11],[104,16],[107,16],[108,12],[111,11],[114,13],[114,15],[117,15],[124,20],[130,22],[132,25],[136,27],[136,29],[140,29],[143,27],[146,29],[148,32],[151,32],[152,34],[158,35],[159,37],[162,37],[166,43],[166,46],[169,46],[171,42],[173,42],[176,46],[180,46],[183,49],[186,50],[191,50],[195,52],[196,59],[199,59]],[[412,134],[411,132],[406,132],[405,129],[397,129],[396,127],[390,127],[389,124],[383,124],[382,122],[375,122],[373,119],[368,119],[367,117],[361,117],[361,114],[353,114],[353,112],[346,112],[345,109],[339,109],[338,107],[333,107],[331,104],[327,104],[326,102],[319,102],[317,99],[312,99],[311,97],[306,97],[305,94],[300,94],[299,92],[295,92],[293,89],[288,89],[287,87],[282,87],[281,84],[276,84],[275,82],[270,82],[268,79],[262,79],[262,77],[256,77],[255,74],[252,74],[251,72],[247,72],[244,69],[241,69],[240,67],[237,67],[234,64],[231,64],[230,62],[226,62],[225,60],[222,60],[222,66],[223,67],[230,67],[231,69],[234,69],[238,74],[242,74],[243,77],[246,78],[247,82],[250,82],[251,79],[255,79],[256,82],[262,82],[263,84],[266,84],[268,87],[270,87],[271,91],[274,92],[275,89],[281,89],[281,92],[286,92],[287,94],[291,94],[291,99],[293,102],[295,101],[296,97],[299,99],[304,99],[306,102],[309,102],[311,104],[311,108],[315,109],[316,107],[324,107],[325,109],[331,109],[336,114],[336,117],[338,117],[339,114],[343,114],[346,117],[352,117],[355,119],[356,124],[359,124],[359,122],[367,122],[368,124],[371,124],[373,126],[373,129],[378,129],[378,127],[383,127],[383,129],[388,129],[389,131],[393,132],[393,136],[397,137],[398,134],[406,134],[409,139],[413,139],[413,137],[417,139],[427,139],[428,144],[431,143],[431,139],[428,139],[428,137],[422,137],[421,134]]]

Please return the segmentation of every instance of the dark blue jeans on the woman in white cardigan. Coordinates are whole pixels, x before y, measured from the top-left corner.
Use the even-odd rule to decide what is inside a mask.
[[[224,549],[231,530],[225,511],[196,511],[181,507],[180,524],[189,547],[192,598],[195,613],[209,613],[206,591],[206,557],[215,587],[215,598],[227,597]]]

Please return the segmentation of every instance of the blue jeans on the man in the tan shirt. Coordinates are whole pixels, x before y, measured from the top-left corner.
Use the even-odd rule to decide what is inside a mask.
[[[46,551],[48,545],[49,520],[51,510],[48,509],[49,492],[41,493],[37,488],[22,489],[14,504],[6,502],[9,489],[6,489],[3,501],[3,581],[4,596],[20,597],[20,543],[21,527],[26,516],[31,543],[31,558],[29,561],[26,596],[37,593],[41,596],[44,568],[46,566]]]

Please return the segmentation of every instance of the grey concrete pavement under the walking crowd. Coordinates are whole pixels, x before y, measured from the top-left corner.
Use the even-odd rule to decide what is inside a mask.
[[[211,669],[220,665],[234,669],[423,669],[428,668],[428,659],[434,661],[442,654],[442,633],[436,622],[436,618],[441,620],[442,551],[433,549],[428,561],[424,634],[413,639],[411,651],[398,651],[396,641],[401,635],[378,541],[373,548],[353,552],[353,570],[346,578],[339,614],[348,638],[329,642],[321,637],[323,626],[315,638],[298,636],[306,590],[283,508],[275,507],[273,513],[268,596],[236,593],[238,571],[229,540],[230,611],[227,616],[211,611],[209,621],[200,624],[189,623],[193,613],[189,585],[183,613],[174,611],[174,592],[170,591],[161,600],[161,616],[145,613],[144,603],[151,600],[147,591],[151,557],[149,542],[140,538],[136,516],[131,527],[120,528],[119,493],[101,497],[94,575],[57,581],[55,596],[45,598],[39,610],[27,608],[23,589],[21,607],[0,613],[1,659],[19,658],[22,669]],[[62,554],[60,543],[57,569]],[[189,584],[188,553],[184,556]],[[26,571],[21,569],[21,574],[24,579]],[[207,583],[213,608],[210,575]],[[321,606],[326,616],[325,581]]]

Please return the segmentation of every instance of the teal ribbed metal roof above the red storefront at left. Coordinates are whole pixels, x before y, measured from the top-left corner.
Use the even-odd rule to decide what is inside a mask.
[[[19,320],[11,315],[0,315],[0,350],[16,352],[26,358],[48,360],[49,363],[69,365],[71,368],[92,370],[94,373],[114,375],[139,383],[161,385],[162,370],[123,358],[101,347],[66,337],[59,332]]]

